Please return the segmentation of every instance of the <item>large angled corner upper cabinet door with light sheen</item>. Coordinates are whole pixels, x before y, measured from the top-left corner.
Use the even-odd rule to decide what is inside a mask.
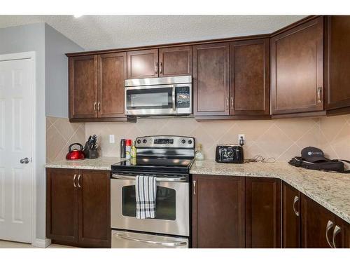
[[[323,110],[323,18],[271,39],[272,114]]]

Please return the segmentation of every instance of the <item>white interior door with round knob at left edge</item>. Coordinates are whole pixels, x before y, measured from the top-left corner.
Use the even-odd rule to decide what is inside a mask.
[[[0,239],[25,243],[32,227],[33,78],[31,59],[0,56]]]

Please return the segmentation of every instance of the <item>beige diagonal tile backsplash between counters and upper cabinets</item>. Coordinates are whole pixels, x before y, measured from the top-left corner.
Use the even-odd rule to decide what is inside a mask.
[[[84,135],[92,134],[99,137],[102,156],[119,156],[121,138],[134,140],[144,135],[187,135],[195,137],[196,142],[202,144],[206,159],[214,159],[216,144],[235,144],[239,133],[246,136],[245,158],[260,154],[265,158],[287,161],[299,156],[302,148],[316,146],[332,159],[350,159],[350,115],[264,121],[139,119],[137,123],[85,124],[48,117],[48,123],[48,161],[64,159],[71,142],[82,143]],[[115,135],[114,144],[109,143],[111,134]]]

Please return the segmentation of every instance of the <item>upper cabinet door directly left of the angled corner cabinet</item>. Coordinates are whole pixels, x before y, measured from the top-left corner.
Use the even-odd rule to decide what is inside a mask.
[[[269,39],[230,43],[231,115],[269,115]]]

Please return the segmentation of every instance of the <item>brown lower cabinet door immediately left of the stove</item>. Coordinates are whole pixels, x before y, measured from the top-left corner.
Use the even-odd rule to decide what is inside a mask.
[[[111,248],[110,172],[80,170],[79,244]]]

